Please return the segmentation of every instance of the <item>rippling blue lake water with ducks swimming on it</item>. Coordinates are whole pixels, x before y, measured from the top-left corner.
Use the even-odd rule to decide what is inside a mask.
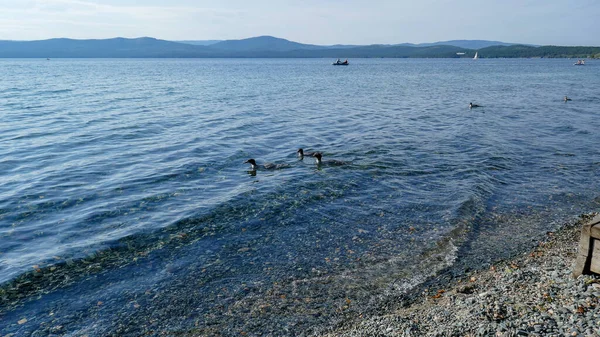
[[[599,62],[350,61],[0,60],[0,335],[317,334],[598,209]]]

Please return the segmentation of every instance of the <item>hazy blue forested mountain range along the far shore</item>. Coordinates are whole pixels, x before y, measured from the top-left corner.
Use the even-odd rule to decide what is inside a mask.
[[[102,40],[66,38],[39,41],[0,40],[0,58],[367,58],[367,57],[588,57],[598,47],[530,46],[487,40],[453,40],[423,44],[303,44],[272,36],[241,40],[166,41],[150,37]]]

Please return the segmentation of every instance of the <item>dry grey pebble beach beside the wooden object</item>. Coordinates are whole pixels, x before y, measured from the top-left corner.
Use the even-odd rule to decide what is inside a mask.
[[[600,276],[572,277],[581,226],[566,223],[514,258],[430,286],[402,308],[325,334],[354,336],[599,336]]]

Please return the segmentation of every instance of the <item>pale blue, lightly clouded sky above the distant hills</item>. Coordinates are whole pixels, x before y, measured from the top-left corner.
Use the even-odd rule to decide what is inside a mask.
[[[271,35],[320,45],[600,46],[599,19],[600,0],[0,0],[0,40]]]

